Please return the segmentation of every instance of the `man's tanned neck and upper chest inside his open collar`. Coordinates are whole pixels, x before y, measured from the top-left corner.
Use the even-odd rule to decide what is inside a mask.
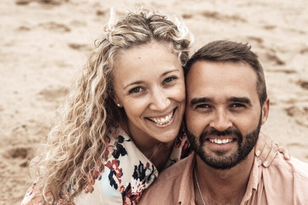
[[[229,170],[215,170],[207,166],[196,155],[195,171],[205,203],[239,204],[246,192],[253,163],[254,150],[248,154],[245,160]],[[196,204],[203,204],[196,181],[195,201]]]

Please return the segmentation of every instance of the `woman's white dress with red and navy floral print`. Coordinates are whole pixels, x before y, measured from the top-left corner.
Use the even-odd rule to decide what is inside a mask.
[[[93,178],[88,181],[84,191],[74,198],[74,204],[136,204],[142,191],[158,177],[156,167],[121,127],[110,129],[107,142],[108,157],[104,165],[92,174]],[[189,154],[191,150],[183,124],[165,168]],[[69,185],[66,190],[66,195],[73,192]],[[35,184],[27,192],[22,205],[44,205],[45,202],[37,201],[34,193]],[[63,201],[59,200],[57,205],[61,205]]]

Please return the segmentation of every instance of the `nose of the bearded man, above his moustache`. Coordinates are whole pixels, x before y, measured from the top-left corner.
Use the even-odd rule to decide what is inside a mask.
[[[232,121],[229,119],[228,113],[223,109],[219,108],[215,111],[209,126],[215,128],[218,131],[224,131],[232,127]]]

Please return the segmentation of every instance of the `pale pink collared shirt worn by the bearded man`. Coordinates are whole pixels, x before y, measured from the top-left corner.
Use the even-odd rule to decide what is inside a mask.
[[[143,193],[142,204],[195,204],[193,169],[195,154],[161,173]],[[257,166],[257,157],[249,176],[242,204],[308,204],[308,164],[278,154],[268,168]]]

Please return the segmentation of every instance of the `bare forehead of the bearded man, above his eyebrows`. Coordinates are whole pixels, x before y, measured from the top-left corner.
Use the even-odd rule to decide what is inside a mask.
[[[194,95],[203,91],[219,92],[254,88],[257,92],[257,74],[242,62],[209,62],[198,60],[186,75],[186,90]],[[249,92],[252,92],[250,90]]]

